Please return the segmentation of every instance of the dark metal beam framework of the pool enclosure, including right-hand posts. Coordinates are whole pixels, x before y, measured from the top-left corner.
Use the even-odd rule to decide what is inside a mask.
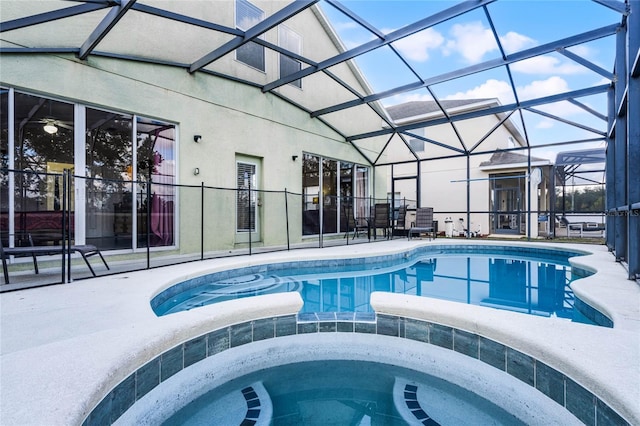
[[[3,44],[0,47],[0,57],[5,55],[32,55],[32,54],[74,54],[79,60],[86,60],[91,56],[96,57],[110,57],[128,61],[138,61],[145,63],[158,64],[162,66],[178,67],[190,73],[204,73],[214,75],[217,77],[227,78],[233,80],[239,84],[246,84],[253,86],[261,90],[265,96],[275,96],[288,102],[297,108],[305,111],[309,114],[310,119],[318,120],[323,125],[334,130],[337,134],[344,137],[344,140],[350,143],[355,150],[357,150],[362,157],[373,167],[388,166],[390,164],[384,163],[382,158],[382,152],[378,153],[375,158],[367,157],[361,148],[359,148],[356,141],[362,141],[373,137],[386,136],[389,138],[398,135],[405,144],[407,144],[407,137],[415,137],[411,135],[411,130],[418,127],[428,127],[440,124],[450,125],[455,132],[455,122],[462,119],[470,119],[474,117],[481,117],[490,114],[513,114],[518,112],[522,117],[523,111],[532,112],[535,114],[541,114],[541,111],[535,107],[544,104],[557,102],[560,100],[566,100],[574,105],[583,108],[589,112],[592,112],[599,119],[607,120],[607,132],[602,136],[602,140],[607,143],[606,153],[606,197],[607,197],[607,232],[606,232],[606,244],[609,249],[615,254],[615,257],[620,262],[623,262],[629,271],[630,279],[638,279],[640,277],[640,0],[592,0],[593,2],[606,7],[614,12],[618,13],[621,17],[621,22],[607,25],[601,28],[596,28],[591,31],[587,31],[581,34],[577,34],[571,37],[566,37],[556,41],[546,43],[544,45],[516,52],[513,54],[506,54],[502,49],[500,40],[497,36],[496,30],[493,27],[493,19],[487,6],[492,3],[501,0],[469,0],[465,2],[457,3],[447,9],[437,12],[431,16],[423,17],[414,23],[405,25],[395,31],[388,34],[384,34],[375,26],[368,23],[366,20],[360,18],[354,12],[350,11],[346,6],[341,4],[338,0],[295,0],[290,2],[284,8],[278,12],[267,16],[262,22],[256,24],[254,27],[249,28],[247,31],[241,31],[237,28],[230,28],[225,25],[221,25],[216,22],[209,22],[199,19],[195,16],[185,16],[179,13],[171,12],[168,10],[159,9],[150,5],[144,4],[143,0],[91,0],[91,1],[69,1],[68,3],[78,3],[70,7],[64,7],[57,10],[52,10],[45,13],[38,13],[31,16],[22,17],[19,19],[0,22],[0,38],[4,34],[9,34],[14,30],[21,30],[26,28],[37,29],[40,24],[50,23],[52,21],[62,21],[65,18],[80,16],[86,13],[92,13],[100,10],[107,10],[106,16],[100,21],[99,25],[91,32],[91,34],[78,46],[51,46],[47,43],[34,46],[11,46],[10,44]],[[62,2],[61,2],[62,3]],[[316,3],[323,3],[330,8],[335,8],[340,13],[348,16],[354,22],[359,24],[361,28],[368,31],[374,37],[373,40],[368,41],[355,48],[346,49],[340,54],[331,58],[326,58],[322,61],[314,61],[306,58],[302,55],[289,52],[286,49],[272,45],[259,37],[266,31],[274,28],[280,23],[286,22],[288,19],[294,17],[296,14],[307,8],[317,7]],[[465,13],[471,11],[484,12],[493,32],[494,40],[500,47],[501,58],[482,62],[473,66],[463,67],[454,71],[433,76],[430,78],[422,78],[414,69],[411,68],[408,61],[404,60],[402,55],[391,44],[395,41],[401,40],[417,32],[431,28],[438,23],[446,20],[462,16]],[[220,46],[213,46],[210,53],[200,58],[194,58],[189,63],[181,63],[177,61],[167,61],[166,59],[144,57],[142,55],[124,55],[118,52],[101,51],[100,44],[103,38],[108,34],[117,32],[119,27],[119,21],[122,20],[127,14],[131,13],[143,13],[150,16],[158,17],[158,19],[172,20],[176,22],[184,23],[185,25],[197,26],[210,31],[219,32],[232,36],[233,39],[226,44]],[[613,65],[613,71],[607,71],[601,66],[590,62],[589,60],[577,55],[576,53],[567,50],[568,47],[586,43],[588,41],[597,40],[603,37],[611,36],[615,34],[616,37],[616,61]],[[237,47],[242,46],[248,42],[255,42],[267,49],[277,51],[280,54],[289,56],[296,60],[300,60],[303,64],[303,68],[288,76],[278,78],[270,81],[267,84],[261,84],[254,81],[243,80],[241,78],[225,75],[223,73],[213,71],[206,68],[206,65],[215,62],[218,58],[226,53],[232,52]],[[331,73],[330,67],[339,63],[347,62],[358,58],[368,52],[371,52],[377,48],[388,46],[393,52],[404,62],[409,72],[416,77],[416,81],[410,84],[405,84],[399,87],[380,92],[380,93],[359,93],[357,90],[350,87],[347,83],[340,80],[336,75]],[[557,52],[566,58],[578,63],[585,68],[601,75],[607,80],[611,80],[611,84],[603,84],[595,87],[579,88],[568,93],[562,93],[559,95],[552,95],[546,97],[540,97],[536,99],[528,99],[521,101],[518,99],[517,88],[511,78],[510,65],[516,61],[524,60],[527,58],[533,58],[548,54],[551,52]],[[447,111],[441,108],[442,118],[437,120],[425,121],[422,123],[416,123],[412,125],[399,126],[394,124],[385,114],[384,109],[379,103],[382,99],[394,96],[397,94],[406,93],[408,91],[416,89],[426,89],[431,92],[431,87],[435,84],[450,81],[455,78],[463,76],[474,75],[483,71],[504,67],[509,75],[511,90],[515,95],[515,102],[509,105],[501,105],[495,108],[489,108],[486,110],[466,113],[460,115],[449,115]],[[336,84],[340,85],[353,95],[353,99],[347,102],[340,102],[335,105],[330,105],[321,109],[312,110],[293,99],[287,98],[276,89],[291,81],[310,76],[315,73],[322,73],[328,76]],[[579,100],[581,97],[591,96],[594,94],[608,94],[609,111],[608,116],[605,117],[597,111],[590,111],[590,107]],[[435,98],[435,96],[434,96]],[[437,102],[437,98],[436,102]],[[346,130],[337,128],[332,125],[329,120],[323,118],[323,116],[342,111],[348,114],[350,108],[356,108],[360,106],[367,106],[371,108],[378,116],[380,116],[384,123],[384,128],[372,128],[369,132],[349,134]],[[542,113],[545,114],[545,113]],[[558,117],[550,117],[558,119]],[[565,121],[565,124],[575,127],[588,127]],[[495,130],[495,129],[494,129]],[[521,148],[526,154],[531,156],[532,145],[526,134],[526,128],[524,129],[524,138],[526,146]],[[589,131],[593,131],[593,128],[587,128]],[[457,133],[457,132],[456,132]],[[486,136],[485,136],[486,138]],[[451,144],[451,156],[452,157],[466,157],[467,175],[469,175],[469,158],[471,155],[477,154],[477,148],[481,144],[482,140],[472,143],[471,148],[467,148],[465,144],[460,140],[452,141]],[[390,140],[390,139],[389,139]],[[435,143],[442,143],[440,141],[433,141]],[[579,143],[583,141],[568,141],[566,144]],[[385,149],[389,142],[385,144]],[[557,143],[553,145],[561,145],[563,143]],[[459,146],[462,148],[459,148]],[[551,144],[550,144],[551,145]],[[539,145],[536,146],[540,147]],[[413,153],[413,160],[420,169],[420,164],[430,159],[419,159]],[[391,164],[392,165],[392,164]],[[529,170],[530,171],[530,170]],[[391,177],[393,180],[393,176]],[[469,186],[467,185],[467,199],[469,199]],[[469,202],[467,204],[467,215],[469,215]]]

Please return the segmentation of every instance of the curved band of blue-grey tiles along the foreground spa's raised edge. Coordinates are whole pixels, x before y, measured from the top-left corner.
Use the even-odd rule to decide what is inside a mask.
[[[315,313],[263,318],[198,336],[138,368],[104,397],[87,416],[83,426],[112,424],[164,380],[219,352],[281,336],[327,332],[379,334],[453,350],[498,368],[536,388],[588,426],[630,426],[588,389],[525,353],[442,324],[374,313]],[[247,420],[251,421],[252,418]]]

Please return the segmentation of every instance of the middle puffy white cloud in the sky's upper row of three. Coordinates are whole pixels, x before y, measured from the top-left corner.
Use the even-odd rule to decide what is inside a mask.
[[[457,52],[469,63],[478,63],[482,57],[492,50],[498,49],[493,33],[484,28],[481,22],[455,24],[451,27],[453,38],[443,48],[445,55]]]

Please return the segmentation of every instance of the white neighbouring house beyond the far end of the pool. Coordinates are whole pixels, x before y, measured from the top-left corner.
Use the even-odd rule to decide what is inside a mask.
[[[450,117],[499,105],[496,99],[439,103]],[[398,126],[425,121],[424,127],[410,130],[411,136],[406,137],[411,150],[396,146],[387,151],[389,162],[404,162],[393,166],[389,180],[396,204],[406,199],[409,207],[433,207],[440,232],[445,230],[445,221],[451,220],[454,229],[481,235],[536,237],[538,211],[547,208],[550,161],[531,157],[529,163],[527,151],[517,151],[526,146],[524,138],[501,114],[458,120],[453,125],[429,125],[431,120],[443,119],[440,106],[435,101],[413,101],[387,108]],[[467,151],[468,164],[464,159]],[[531,198],[529,170],[533,171]],[[527,223],[535,224],[530,232]]]

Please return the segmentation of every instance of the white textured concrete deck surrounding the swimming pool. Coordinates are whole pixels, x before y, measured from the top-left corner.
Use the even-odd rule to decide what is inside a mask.
[[[472,241],[589,251],[577,260],[598,273],[574,293],[606,313],[614,328],[570,323],[404,295],[374,295],[379,312],[425,319],[490,336],[565,372],[631,424],[640,424],[640,286],[626,279],[605,246]],[[175,344],[226,324],[296,312],[291,299],[267,296],[156,317],[150,300],[204,273],[301,259],[400,253],[448,240],[292,250],[213,259],[0,294],[0,424],[81,424],[133,369]],[[455,244],[464,244],[460,240]],[[260,298],[258,298],[260,299]],[[264,303],[268,300],[269,303]]]

